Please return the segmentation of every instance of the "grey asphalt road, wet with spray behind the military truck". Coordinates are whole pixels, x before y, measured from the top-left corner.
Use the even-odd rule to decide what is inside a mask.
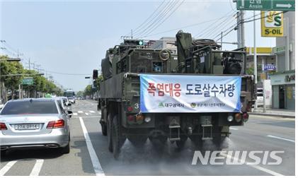
[[[251,115],[245,126],[232,127],[222,151],[284,151],[280,165],[192,165],[196,148],[188,140],[183,150],[167,143],[154,149],[149,140],[142,148],[125,142],[119,160],[108,152],[107,137],[101,134],[100,114],[93,100],[79,100],[72,107],[71,152],[53,149],[8,150],[1,156],[0,175],[88,176],[88,175],[294,175],[294,119]],[[204,150],[213,149],[205,143]],[[227,152],[226,152],[227,153]],[[224,153],[223,153],[224,154]],[[223,155],[220,154],[220,155]],[[229,157],[229,155],[225,155]],[[232,157],[233,160],[236,156]],[[241,160],[241,157],[239,157]],[[270,160],[271,159],[271,160]],[[262,157],[262,160],[263,157]]]

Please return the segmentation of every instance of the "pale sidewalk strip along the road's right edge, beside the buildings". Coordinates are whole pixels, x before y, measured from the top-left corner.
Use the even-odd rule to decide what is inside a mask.
[[[250,112],[249,114],[295,118],[295,110],[291,110],[291,109],[266,109],[266,112],[264,113],[263,108],[257,108],[257,109],[254,109],[253,112]]]

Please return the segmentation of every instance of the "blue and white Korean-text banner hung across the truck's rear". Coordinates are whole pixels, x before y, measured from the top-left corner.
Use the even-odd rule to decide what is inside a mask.
[[[240,76],[141,74],[141,112],[240,112]]]

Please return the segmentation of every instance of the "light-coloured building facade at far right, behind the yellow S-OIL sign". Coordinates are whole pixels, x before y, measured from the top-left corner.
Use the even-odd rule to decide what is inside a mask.
[[[284,37],[276,37],[277,72],[270,74],[273,108],[295,108],[295,13],[284,13]]]

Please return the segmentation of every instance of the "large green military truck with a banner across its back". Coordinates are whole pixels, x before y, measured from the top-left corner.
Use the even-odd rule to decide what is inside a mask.
[[[182,31],[176,46],[173,54],[143,40],[124,40],[102,59],[98,110],[115,158],[126,138],[135,146],[147,138],[178,148],[188,138],[197,146],[207,139],[220,145],[229,126],[248,121],[256,95],[253,76],[246,74],[246,50],[222,51],[216,42],[193,40]],[[212,87],[222,89],[211,94]]]

